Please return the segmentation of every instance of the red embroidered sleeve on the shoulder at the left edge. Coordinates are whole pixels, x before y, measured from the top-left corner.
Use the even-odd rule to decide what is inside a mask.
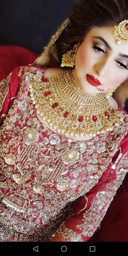
[[[8,110],[17,96],[21,68],[16,67],[7,77],[0,81],[0,125],[2,125]]]

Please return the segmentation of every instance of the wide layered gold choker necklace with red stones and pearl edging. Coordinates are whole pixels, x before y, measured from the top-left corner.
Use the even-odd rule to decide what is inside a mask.
[[[64,135],[94,137],[113,130],[123,120],[121,112],[110,107],[106,93],[85,94],[72,70],[48,79],[35,74],[29,90],[37,114]]]

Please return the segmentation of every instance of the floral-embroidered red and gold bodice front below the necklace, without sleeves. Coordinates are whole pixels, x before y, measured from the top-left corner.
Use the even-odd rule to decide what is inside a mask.
[[[54,232],[67,204],[98,184],[126,135],[127,120],[88,142],[59,136],[40,123],[29,98],[31,76],[42,78],[44,69],[22,72],[21,89],[0,130],[0,229],[6,229],[1,240],[14,235],[15,241],[42,241],[43,230]]]

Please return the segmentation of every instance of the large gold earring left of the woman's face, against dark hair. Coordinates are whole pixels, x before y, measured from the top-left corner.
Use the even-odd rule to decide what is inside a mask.
[[[68,50],[65,54],[63,54],[61,67],[73,67],[75,65],[75,55],[78,51],[79,44],[80,43],[74,44],[73,49]]]

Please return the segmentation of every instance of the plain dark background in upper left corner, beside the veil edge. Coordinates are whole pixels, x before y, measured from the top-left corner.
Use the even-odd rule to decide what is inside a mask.
[[[41,53],[77,0],[0,0],[0,44]]]

